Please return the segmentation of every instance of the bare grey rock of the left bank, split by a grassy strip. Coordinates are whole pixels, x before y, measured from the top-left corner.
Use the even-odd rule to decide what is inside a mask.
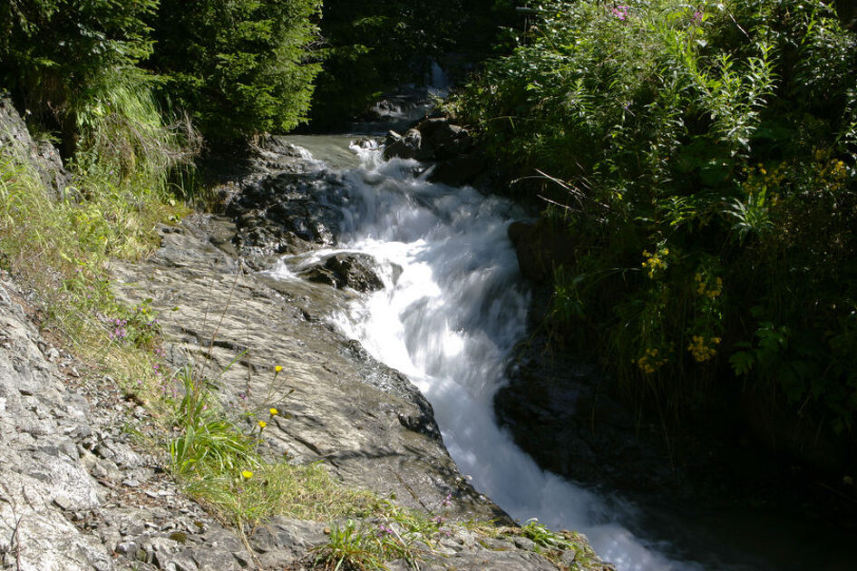
[[[230,211],[229,204],[257,188],[277,191],[277,180],[294,179],[299,168],[293,153],[277,141],[258,148],[248,169],[223,187],[231,219],[195,215],[180,227],[160,227],[161,247],[153,256],[113,264],[115,295],[129,303],[151,300],[147,303],[161,319],[167,362],[177,368],[196,363],[225,406],[276,404],[281,413],[268,423],[262,443],[269,458],[320,462],[343,485],[424,513],[443,506],[444,517],[453,522],[494,522],[444,527],[441,537],[420,548],[421,568],[609,568],[583,537],[569,534],[553,546],[526,537],[472,489],[446,452],[423,396],[403,375],[326,325],[332,308],[358,295],[353,289],[336,287],[336,279],[278,282],[258,271],[286,250],[265,247],[259,239],[264,232],[254,233],[249,218],[241,218],[244,210]],[[304,198],[286,194],[280,202],[302,205],[306,212],[297,211],[311,215]],[[287,219],[295,224],[302,216]],[[268,229],[283,228],[264,218]],[[320,231],[323,227],[319,222],[319,239],[333,239]],[[289,232],[282,230],[285,247],[323,243]],[[352,262],[327,266],[333,276],[343,276],[342,285],[354,284]],[[357,274],[358,280],[365,278]],[[149,412],[117,382],[77,361],[59,338],[49,341],[40,334],[37,312],[37,298],[4,275],[4,569],[313,567],[314,549],[345,522],[275,517],[243,534],[224,527],[183,493],[161,453],[141,448],[131,436],[148,425]],[[282,367],[282,383],[271,382],[274,366]],[[247,422],[248,431],[255,428]],[[406,567],[402,560],[390,563],[390,568]]]

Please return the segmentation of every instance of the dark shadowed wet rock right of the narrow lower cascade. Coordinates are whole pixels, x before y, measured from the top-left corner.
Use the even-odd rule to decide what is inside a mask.
[[[548,346],[533,336],[494,397],[498,421],[521,449],[542,468],[581,482],[630,491],[681,486],[662,432],[638,424],[597,367]]]

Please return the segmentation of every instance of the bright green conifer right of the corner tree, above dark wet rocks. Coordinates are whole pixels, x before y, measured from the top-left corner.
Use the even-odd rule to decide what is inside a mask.
[[[320,70],[320,0],[161,0],[150,64],[163,92],[209,138],[288,131],[305,121]]]

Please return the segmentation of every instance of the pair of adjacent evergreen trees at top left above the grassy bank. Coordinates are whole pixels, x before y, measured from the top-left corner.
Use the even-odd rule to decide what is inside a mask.
[[[319,60],[320,0],[0,5],[0,82],[28,122],[85,150],[114,93],[149,92],[164,116],[190,117],[213,142],[287,131],[306,120]]]

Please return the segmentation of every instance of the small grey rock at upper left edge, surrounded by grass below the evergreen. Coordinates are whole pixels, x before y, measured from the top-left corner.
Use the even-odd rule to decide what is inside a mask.
[[[59,151],[50,141],[34,141],[12,100],[0,92],[0,147],[6,146],[28,160],[44,185],[54,189],[57,197],[65,194],[72,175],[63,167]]]

